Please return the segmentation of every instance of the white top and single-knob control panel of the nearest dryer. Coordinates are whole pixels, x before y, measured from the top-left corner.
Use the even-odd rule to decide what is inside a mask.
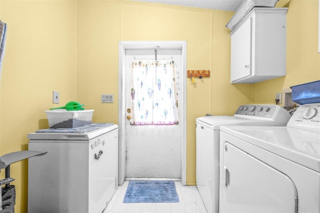
[[[287,126],[221,126],[221,131],[320,172],[319,106],[299,106]]]

